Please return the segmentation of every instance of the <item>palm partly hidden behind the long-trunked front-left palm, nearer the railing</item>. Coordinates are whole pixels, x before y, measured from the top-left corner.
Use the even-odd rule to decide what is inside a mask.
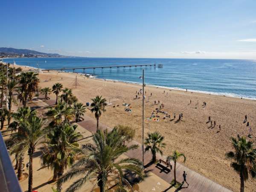
[[[31,121],[32,117],[36,116],[36,111],[31,110],[29,107],[23,107],[23,108],[18,108],[16,113],[12,114],[12,117],[14,118],[14,122],[10,124],[9,127],[17,129],[19,135],[25,134],[26,130],[26,122]],[[9,140],[7,140],[6,143],[9,143],[8,147],[12,147],[12,145],[15,145],[15,143],[19,143],[20,139],[18,137],[12,138],[10,137]],[[17,150],[13,151],[15,155],[17,155],[18,158],[18,172],[17,172],[17,177],[18,180],[22,178],[22,172],[23,172],[23,160],[24,160],[24,152],[23,150]]]

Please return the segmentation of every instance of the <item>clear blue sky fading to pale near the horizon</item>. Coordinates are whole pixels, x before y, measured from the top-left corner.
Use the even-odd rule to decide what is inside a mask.
[[[84,57],[256,59],[256,0],[8,0],[0,47]]]

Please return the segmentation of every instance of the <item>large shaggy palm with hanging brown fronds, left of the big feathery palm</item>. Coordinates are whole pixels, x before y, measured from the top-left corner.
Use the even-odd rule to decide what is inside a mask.
[[[53,169],[53,181],[63,174],[67,166],[75,162],[76,152],[79,151],[77,141],[81,137],[76,128],[77,125],[64,123],[57,125],[47,134],[42,165]]]

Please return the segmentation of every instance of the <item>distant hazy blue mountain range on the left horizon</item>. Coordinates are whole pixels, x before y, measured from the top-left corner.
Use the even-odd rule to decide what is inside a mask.
[[[0,47],[0,53],[4,53],[5,55],[35,55],[35,56],[48,56],[48,57],[61,57],[58,53],[45,53],[38,52],[29,49],[15,49],[9,47]]]

